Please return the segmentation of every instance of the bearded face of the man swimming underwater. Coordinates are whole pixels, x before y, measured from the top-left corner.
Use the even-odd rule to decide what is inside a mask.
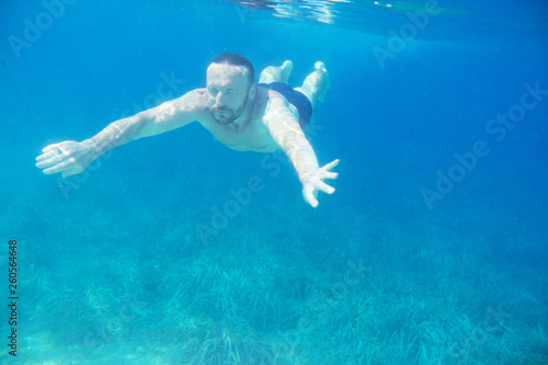
[[[248,103],[248,69],[240,66],[212,64],[207,68],[207,104],[217,123],[236,121]]]

